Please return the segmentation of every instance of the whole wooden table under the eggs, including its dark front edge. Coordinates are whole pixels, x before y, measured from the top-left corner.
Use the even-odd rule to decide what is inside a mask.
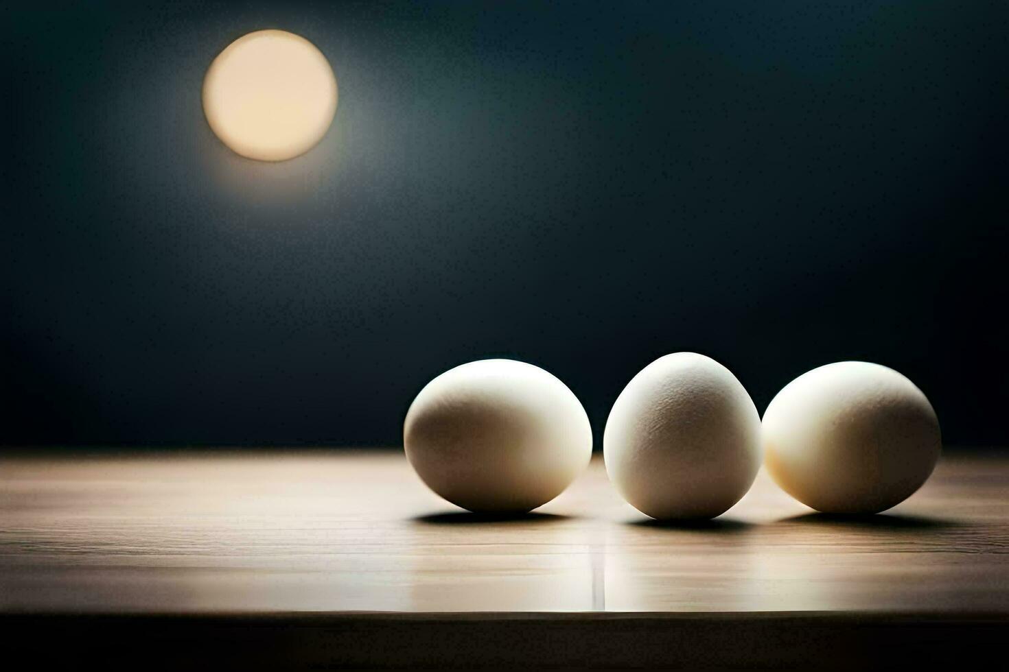
[[[861,519],[762,473],[693,525],[637,513],[601,459],[494,520],[402,451],[0,457],[0,621],[64,663],[152,646],[166,667],[193,647],[217,667],[962,663],[1009,635],[1007,549],[999,452],[947,454]]]

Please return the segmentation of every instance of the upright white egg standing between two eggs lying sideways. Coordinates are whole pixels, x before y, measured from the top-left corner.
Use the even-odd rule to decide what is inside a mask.
[[[606,473],[658,519],[713,518],[750,490],[760,414],[739,380],[695,353],[659,358],[618,397],[603,434]]]

